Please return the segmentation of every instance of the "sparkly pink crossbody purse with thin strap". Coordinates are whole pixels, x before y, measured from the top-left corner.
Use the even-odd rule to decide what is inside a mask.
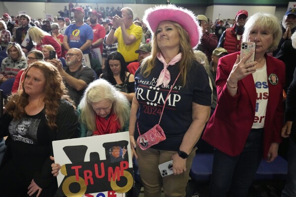
[[[171,88],[169,90],[169,94],[170,94],[175,82],[179,78],[179,76],[180,76],[180,73],[178,74],[177,78],[175,79],[174,83],[172,84],[172,86],[171,86]],[[141,135],[140,130],[139,130],[139,125],[138,125],[138,122],[137,122],[137,127],[138,127],[138,132],[139,132],[139,137],[137,139],[137,144],[139,145],[139,147],[142,150],[146,150],[146,149],[150,148],[151,146],[156,145],[156,144],[158,144],[161,141],[164,141],[166,139],[165,132],[164,132],[164,130],[162,129],[162,127],[159,124],[160,124],[160,121],[162,119],[163,112],[164,112],[167,100],[169,98],[169,94],[167,95],[167,98],[166,98],[166,100],[164,102],[163,110],[162,110],[162,113],[160,115],[158,124],[155,124],[146,133]]]

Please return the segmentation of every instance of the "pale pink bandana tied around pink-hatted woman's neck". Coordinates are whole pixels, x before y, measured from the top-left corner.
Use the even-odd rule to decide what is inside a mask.
[[[176,56],[174,56],[167,64],[163,54],[161,52],[158,53],[157,58],[159,59],[159,61],[161,61],[164,64],[164,69],[162,70],[162,72],[158,77],[156,87],[161,84],[164,84],[164,86],[167,86],[169,84],[170,74],[169,74],[168,67],[169,65],[175,65],[178,61],[180,61],[181,57],[182,57],[182,54],[179,53]]]

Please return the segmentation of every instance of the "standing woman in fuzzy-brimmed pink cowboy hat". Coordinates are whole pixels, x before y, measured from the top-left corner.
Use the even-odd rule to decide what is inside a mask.
[[[185,197],[195,144],[211,109],[209,78],[192,49],[202,30],[191,11],[171,4],[147,9],[144,22],[153,33],[152,55],[135,73],[131,148],[145,197],[160,197],[162,188],[166,196]],[[169,160],[166,176],[158,167]]]

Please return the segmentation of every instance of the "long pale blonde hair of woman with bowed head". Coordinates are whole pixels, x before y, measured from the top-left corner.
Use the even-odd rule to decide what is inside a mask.
[[[112,112],[117,116],[121,129],[125,126],[129,118],[130,106],[127,97],[105,79],[97,79],[89,83],[79,104],[81,109],[80,121],[84,123],[88,130],[96,130],[96,113],[92,109],[91,103],[102,100],[111,101]]]

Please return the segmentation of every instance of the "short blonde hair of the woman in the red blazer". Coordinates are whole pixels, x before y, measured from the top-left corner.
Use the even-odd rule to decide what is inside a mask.
[[[283,34],[279,19],[273,14],[255,13],[250,18],[248,18],[245,24],[243,41],[248,41],[249,35],[254,29],[257,28],[270,30],[272,32],[273,42],[271,43],[267,52],[272,52],[276,50]]]

